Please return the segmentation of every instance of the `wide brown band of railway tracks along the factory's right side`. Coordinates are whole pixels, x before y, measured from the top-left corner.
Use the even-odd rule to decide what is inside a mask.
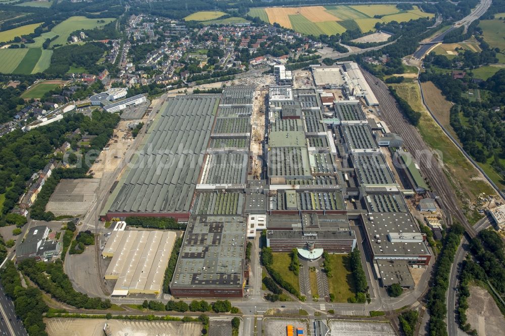
[[[365,78],[370,84],[373,93],[380,101],[381,119],[386,122],[391,132],[399,134],[405,147],[407,147],[420,165],[423,175],[430,182],[430,187],[440,196],[444,212],[451,214],[465,228],[468,235],[474,238],[477,235],[462,212],[442,164],[433,150],[426,145],[417,128],[411,125],[400,113],[396,101],[390,95],[387,86],[377,77],[362,69]]]

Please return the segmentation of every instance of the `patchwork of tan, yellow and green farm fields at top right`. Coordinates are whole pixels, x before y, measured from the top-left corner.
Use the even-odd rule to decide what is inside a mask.
[[[400,11],[394,5],[267,7],[252,9],[248,14],[307,35],[337,34],[355,27],[368,32],[375,31],[377,22],[433,17],[433,14],[424,13],[417,7]],[[375,15],[383,17],[377,19]]]

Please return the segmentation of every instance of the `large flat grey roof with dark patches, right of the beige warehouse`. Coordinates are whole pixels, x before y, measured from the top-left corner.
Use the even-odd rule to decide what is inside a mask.
[[[191,216],[171,288],[240,287],[246,220],[239,216]]]

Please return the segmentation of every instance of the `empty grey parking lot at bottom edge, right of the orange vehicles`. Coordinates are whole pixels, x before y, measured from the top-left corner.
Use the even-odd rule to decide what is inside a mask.
[[[329,323],[331,336],[395,336],[388,322],[336,321]]]

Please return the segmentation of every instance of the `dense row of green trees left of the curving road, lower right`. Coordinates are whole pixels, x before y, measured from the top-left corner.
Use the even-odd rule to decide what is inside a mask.
[[[449,287],[450,268],[465,229],[460,224],[455,223],[447,231],[440,256],[434,267],[433,286],[428,294],[428,309],[430,310],[429,328],[430,334],[433,336],[447,334],[445,324],[445,317],[447,315],[445,293]]]

